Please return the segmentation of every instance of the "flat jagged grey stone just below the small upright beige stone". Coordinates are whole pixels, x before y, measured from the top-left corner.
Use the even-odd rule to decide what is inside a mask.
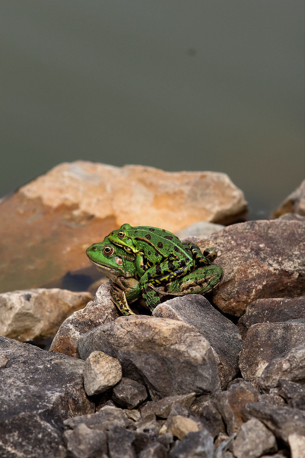
[[[133,421],[128,418],[125,412],[118,407],[105,406],[95,414],[80,415],[64,420],[64,425],[74,429],[78,425],[84,424],[88,428],[98,430],[108,430],[109,425],[128,427],[133,425]]]

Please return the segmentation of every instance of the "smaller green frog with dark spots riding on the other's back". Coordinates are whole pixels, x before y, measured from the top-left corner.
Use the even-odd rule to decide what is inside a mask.
[[[185,277],[196,267],[211,265],[198,246],[182,243],[166,229],[123,224],[120,229],[112,231],[108,238],[136,256],[136,276],[143,299],[151,311],[160,303],[160,295],[155,288]],[[222,269],[220,271],[222,273]]]

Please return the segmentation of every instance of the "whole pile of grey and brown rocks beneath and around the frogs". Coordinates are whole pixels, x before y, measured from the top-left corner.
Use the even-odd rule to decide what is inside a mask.
[[[80,310],[91,296],[65,293],[75,311],[50,352],[0,337],[1,457],[304,457],[304,218],[188,240],[215,247],[224,270],[207,298],[123,317],[105,283]],[[9,332],[28,315],[44,335],[45,290],[14,294]]]

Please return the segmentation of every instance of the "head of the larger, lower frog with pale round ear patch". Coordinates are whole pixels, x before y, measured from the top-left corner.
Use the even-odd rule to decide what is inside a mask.
[[[124,277],[134,277],[134,255],[126,253],[120,246],[113,245],[108,237],[105,237],[102,242],[89,246],[86,255],[97,270],[108,278],[112,279],[113,276],[118,277],[122,274]]]

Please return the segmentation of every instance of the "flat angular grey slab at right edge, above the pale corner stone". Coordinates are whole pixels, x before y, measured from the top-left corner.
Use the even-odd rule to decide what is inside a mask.
[[[261,420],[274,436],[288,445],[290,434],[304,435],[305,412],[291,407],[275,406],[267,403],[248,403],[243,414],[246,419],[251,417]]]

